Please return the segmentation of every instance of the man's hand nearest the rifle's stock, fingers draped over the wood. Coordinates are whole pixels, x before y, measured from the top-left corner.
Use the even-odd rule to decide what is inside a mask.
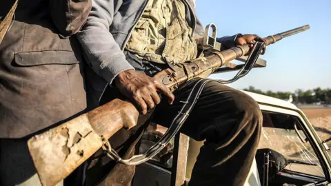
[[[141,114],[146,114],[148,108],[159,104],[161,99],[158,93],[168,97],[169,103],[174,101],[174,94],[157,79],[140,74],[134,70],[126,70],[117,75],[115,85],[124,96],[126,96],[140,109]]]

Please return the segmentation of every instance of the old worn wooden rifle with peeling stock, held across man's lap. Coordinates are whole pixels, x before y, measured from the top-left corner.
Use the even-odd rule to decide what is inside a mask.
[[[309,28],[309,25],[305,25],[265,37],[265,45],[270,45]],[[259,55],[259,51],[255,51],[256,56]],[[241,45],[221,52],[213,51],[208,56],[165,69],[159,72],[155,78],[174,91],[182,83],[197,76],[208,76],[214,70],[228,65],[230,61],[248,53],[250,55],[254,53],[254,51],[250,51],[249,45]],[[253,56],[253,61],[257,60],[256,56]],[[59,183],[100,147],[103,147],[108,138],[122,127],[127,130],[134,127],[138,116],[139,112],[130,101],[114,99],[71,121],[30,138],[28,147],[41,184]]]

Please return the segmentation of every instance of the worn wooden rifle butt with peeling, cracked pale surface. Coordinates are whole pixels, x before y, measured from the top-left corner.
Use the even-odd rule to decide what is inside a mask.
[[[136,125],[139,112],[128,101],[114,99],[43,134],[28,147],[42,185],[56,185],[86,161],[121,127]]]

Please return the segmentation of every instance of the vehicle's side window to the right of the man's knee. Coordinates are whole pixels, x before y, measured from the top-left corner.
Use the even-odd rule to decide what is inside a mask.
[[[263,112],[259,149],[272,149],[291,162],[284,165],[285,170],[324,177],[317,154],[300,124],[295,116]]]

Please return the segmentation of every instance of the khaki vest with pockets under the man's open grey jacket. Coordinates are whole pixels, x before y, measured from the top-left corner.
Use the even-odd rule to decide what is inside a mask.
[[[185,20],[181,0],[150,0],[139,19],[126,50],[156,63],[183,63],[195,59],[197,43]]]

